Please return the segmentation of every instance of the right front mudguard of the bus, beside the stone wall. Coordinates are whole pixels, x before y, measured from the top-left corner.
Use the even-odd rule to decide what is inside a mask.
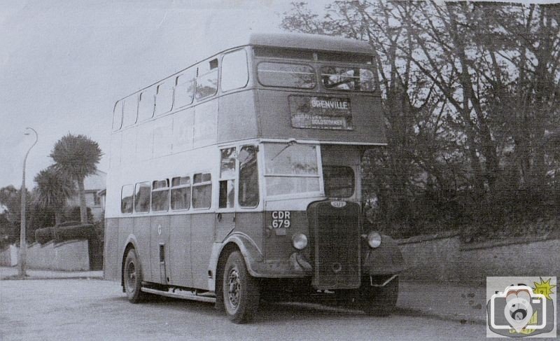
[[[362,274],[398,274],[407,269],[397,242],[381,235],[381,245],[370,248],[367,241],[362,243]]]

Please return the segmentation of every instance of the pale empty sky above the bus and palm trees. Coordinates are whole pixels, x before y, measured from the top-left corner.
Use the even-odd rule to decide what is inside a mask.
[[[28,188],[69,132],[99,143],[106,172],[117,99],[217,52],[215,41],[281,32],[289,9],[289,0],[0,0],[0,188],[21,186],[34,142],[26,127],[38,132]]]

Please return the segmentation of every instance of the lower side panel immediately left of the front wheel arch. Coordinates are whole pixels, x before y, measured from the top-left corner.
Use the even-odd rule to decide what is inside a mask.
[[[190,251],[195,288],[208,289],[208,265],[214,242],[214,213],[192,214]]]

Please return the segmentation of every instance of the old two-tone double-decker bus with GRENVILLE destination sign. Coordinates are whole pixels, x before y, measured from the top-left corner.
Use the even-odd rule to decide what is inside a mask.
[[[389,314],[405,265],[367,228],[360,183],[386,144],[372,49],[251,34],[218,51],[116,102],[104,276],[235,323],[288,294]]]

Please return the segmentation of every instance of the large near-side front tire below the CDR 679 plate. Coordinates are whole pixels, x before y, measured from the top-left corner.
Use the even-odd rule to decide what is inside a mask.
[[[248,273],[239,251],[230,253],[222,278],[225,314],[233,323],[247,323],[258,309],[260,297],[258,280]]]

